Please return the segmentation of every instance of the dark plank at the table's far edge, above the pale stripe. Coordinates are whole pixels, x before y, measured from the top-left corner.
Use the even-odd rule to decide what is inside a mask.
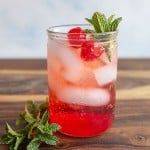
[[[150,59],[119,59],[119,70],[150,69]],[[46,70],[46,59],[1,59],[1,69]]]

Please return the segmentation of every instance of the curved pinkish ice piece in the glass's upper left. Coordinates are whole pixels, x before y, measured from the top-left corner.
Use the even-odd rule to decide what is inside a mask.
[[[58,57],[64,70],[61,75],[70,82],[77,82],[81,79],[84,72],[84,67],[81,58],[75,53],[75,49],[67,47],[65,45],[59,45],[54,43],[55,49],[53,49],[55,55]]]

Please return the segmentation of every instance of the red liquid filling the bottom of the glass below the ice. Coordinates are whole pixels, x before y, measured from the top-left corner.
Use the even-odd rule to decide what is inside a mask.
[[[61,125],[60,132],[70,136],[90,137],[103,133],[111,126],[114,118],[114,83],[106,89],[111,95],[110,101],[98,107],[64,103],[49,90],[50,122]]]

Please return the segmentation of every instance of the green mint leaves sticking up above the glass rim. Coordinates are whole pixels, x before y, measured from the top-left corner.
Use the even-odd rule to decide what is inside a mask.
[[[93,25],[96,33],[104,33],[113,32],[117,30],[118,25],[122,20],[122,17],[114,17],[114,15],[111,15],[109,18],[107,18],[103,13],[95,12],[91,19],[85,19]]]

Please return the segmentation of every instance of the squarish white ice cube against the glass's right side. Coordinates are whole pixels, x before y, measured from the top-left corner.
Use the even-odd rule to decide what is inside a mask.
[[[94,70],[95,79],[100,86],[106,85],[117,77],[117,65],[109,64]]]

